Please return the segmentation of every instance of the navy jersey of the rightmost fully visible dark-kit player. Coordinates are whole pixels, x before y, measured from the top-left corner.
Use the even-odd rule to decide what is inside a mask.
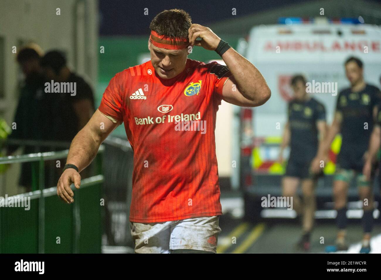
[[[368,84],[359,92],[347,88],[339,93],[336,112],[343,116],[341,153],[366,152],[374,125],[373,109],[380,101],[379,89]]]

